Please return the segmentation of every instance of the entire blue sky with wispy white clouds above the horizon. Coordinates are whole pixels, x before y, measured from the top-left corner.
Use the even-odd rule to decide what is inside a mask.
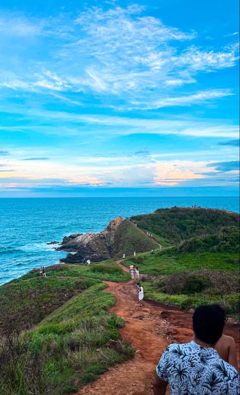
[[[238,43],[237,0],[2,0],[0,197],[236,195]]]

